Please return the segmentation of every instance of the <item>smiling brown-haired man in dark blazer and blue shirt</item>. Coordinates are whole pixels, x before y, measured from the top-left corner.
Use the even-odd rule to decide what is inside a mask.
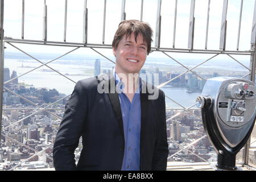
[[[147,23],[121,22],[112,43],[113,73],[77,82],[53,147],[56,170],[166,170],[164,93],[138,77],[151,36]]]

